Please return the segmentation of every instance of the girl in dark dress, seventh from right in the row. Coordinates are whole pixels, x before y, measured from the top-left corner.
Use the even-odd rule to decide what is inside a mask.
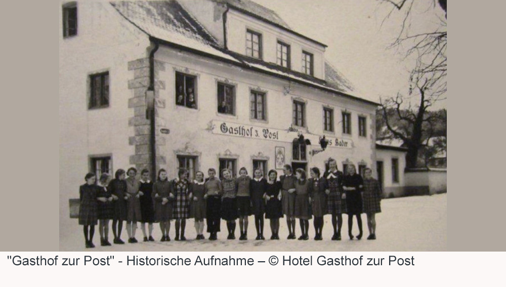
[[[281,206],[281,183],[277,181],[278,173],[269,171],[269,181],[265,188],[265,218],[270,220],[271,240],[279,239],[279,219],[283,217]]]

